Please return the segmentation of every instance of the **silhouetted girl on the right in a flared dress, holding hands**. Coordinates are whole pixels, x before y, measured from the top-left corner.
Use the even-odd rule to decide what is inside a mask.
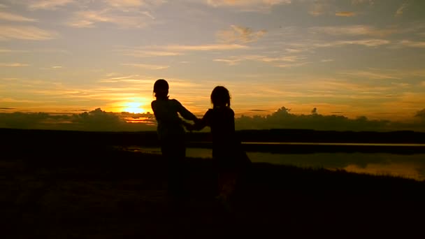
[[[240,168],[250,164],[235,133],[235,113],[230,108],[230,94],[225,87],[217,86],[211,93],[212,109],[188,129],[201,130],[210,126],[212,158],[218,171],[219,199],[227,201],[233,192]]]

